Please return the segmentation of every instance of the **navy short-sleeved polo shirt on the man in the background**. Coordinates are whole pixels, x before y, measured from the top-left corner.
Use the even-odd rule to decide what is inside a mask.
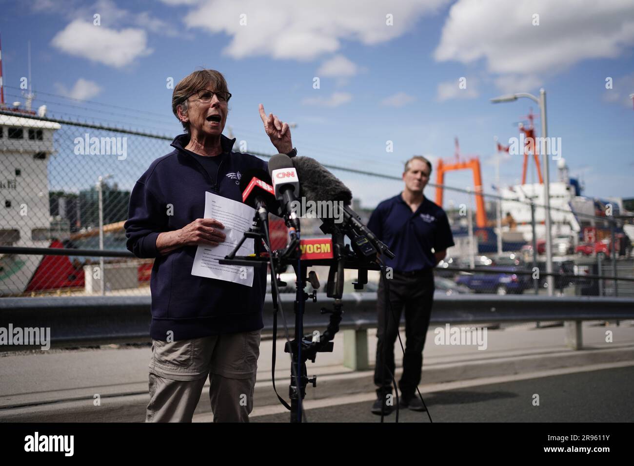
[[[432,248],[439,252],[455,245],[447,214],[426,197],[416,212],[400,194],[384,200],[372,212],[368,228],[394,252],[396,257],[386,264],[397,272],[432,269]]]

